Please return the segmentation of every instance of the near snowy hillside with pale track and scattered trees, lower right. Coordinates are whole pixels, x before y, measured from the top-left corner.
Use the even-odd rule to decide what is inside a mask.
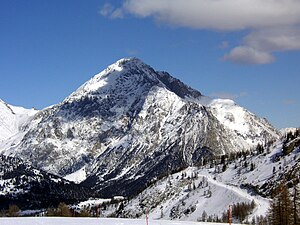
[[[285,155],[283,143],[297,144]],[[204,211],[207,217],[221,218],[229,205],[254,203],[253,211],[245,218],[252,221],[267,215],[269,198],[281,182],[299,186],[299,175],[298,132],[292,140],[282,138],[251,153],[233,154],[166,176],[126,202],[119,216],[141,218],[149,209],[152,219],[199,221]],[[111,208],[107,211],[112,213]],[[105,211],[103,214],[109,215]]]

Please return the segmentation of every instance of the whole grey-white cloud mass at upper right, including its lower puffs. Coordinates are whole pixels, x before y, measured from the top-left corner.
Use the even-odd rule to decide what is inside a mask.
[[[119,8],[105,4],[100,14],[153,17],[193,29],[247,29],[242,44],[223,57],[234,63],[267,64],[276,51],[300,50],[300,0],[125,0]],[[220,46],[227,47],[227,42]]]

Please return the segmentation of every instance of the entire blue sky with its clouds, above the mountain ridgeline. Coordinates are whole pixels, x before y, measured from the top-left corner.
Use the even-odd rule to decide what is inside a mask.
[[[299,127],[300,3],[240,3],[1,0],[0,98],[42,109],[135,56],[278,128]]]

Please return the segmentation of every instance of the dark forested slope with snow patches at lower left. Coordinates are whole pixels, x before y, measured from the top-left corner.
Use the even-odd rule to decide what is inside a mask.
[[[95,196],[90,189],[39,170],[17,157],[0,154],[0,210],[10,205],[20,209],[40,209],[87,200]]]

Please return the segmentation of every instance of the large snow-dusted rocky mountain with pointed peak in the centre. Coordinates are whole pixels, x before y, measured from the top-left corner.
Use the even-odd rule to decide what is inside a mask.
[[[0,144],[5,154],[103,196],[134,195],[168,173],[280,135],[233,101],[209,99],[136,58],[117,61],[26,124]]]

